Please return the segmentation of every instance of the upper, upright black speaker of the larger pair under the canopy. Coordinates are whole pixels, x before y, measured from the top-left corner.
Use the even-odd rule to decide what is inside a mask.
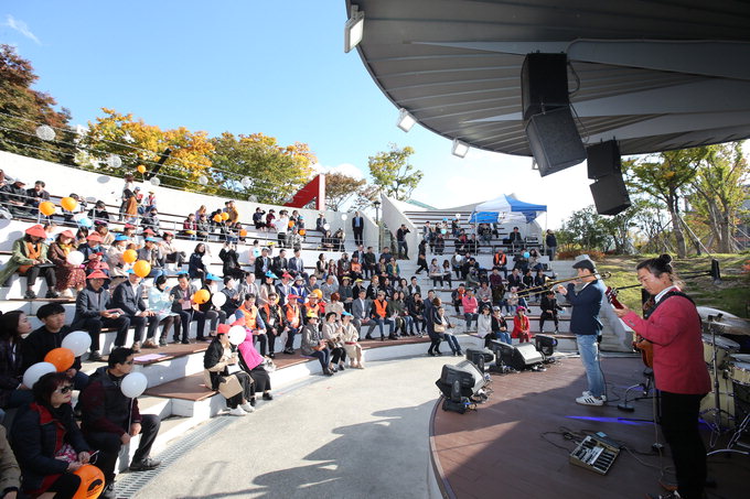
[[[568,107],[566,54],[528,54],[521,68],[521,102],[524,120],[558,107]]]

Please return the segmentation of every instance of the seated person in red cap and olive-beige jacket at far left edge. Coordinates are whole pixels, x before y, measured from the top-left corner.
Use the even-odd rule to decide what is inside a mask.
[[[26,278],[26,300],[34,300],[34,284],[40,275],[47,284],[46,297],[56,299],[60,294],[55,291],[57,280],[54,265],[47,258],[47,246],[44,243],[46,232],[41,225],[34,225],[26,229],[25,235],[13,241],[10,260],[0,270],[0,283],[10,285],[8,281],[18,272]]]

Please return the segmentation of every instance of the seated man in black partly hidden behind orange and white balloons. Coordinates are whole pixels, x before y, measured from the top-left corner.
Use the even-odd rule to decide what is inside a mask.
[[[65,325],[65,307],[60,303],[45,303],[36,311],[36,317],[42,321],[42,326],[34,329],[21,343],[23,356],[23,372],[36,362],[43,362],[44,357],[60,348],[63,338],[73,329]],[[76,357],[65,373],[73,380],[76,390],[83,390],[88,384],[88,376],[81,372],[81,357]]]

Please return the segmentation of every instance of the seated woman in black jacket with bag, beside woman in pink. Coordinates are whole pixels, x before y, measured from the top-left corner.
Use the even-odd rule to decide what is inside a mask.
[[[239,367],[237,347],[229,343],[229,330],[219,327],[203,356],[206,386],[226,399],[229,414],[244,416],[255,411],[249,404],[255,394],[253,378]]]

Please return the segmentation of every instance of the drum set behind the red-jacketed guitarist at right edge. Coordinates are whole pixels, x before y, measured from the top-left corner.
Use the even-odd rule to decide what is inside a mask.
[[[701,314],[703,315],[703,314]],[[750,321],[725,316],[724,313],[701,317],[704,360],[711,377],[712,390],[700,404],[700,414],[711,427],[711,448],[718,437],[733,430],[727,448],[714,451],[750,454],[735,447],[750,425],[750,354],[739,354],[740,345],[721,335],[750,335]]]

